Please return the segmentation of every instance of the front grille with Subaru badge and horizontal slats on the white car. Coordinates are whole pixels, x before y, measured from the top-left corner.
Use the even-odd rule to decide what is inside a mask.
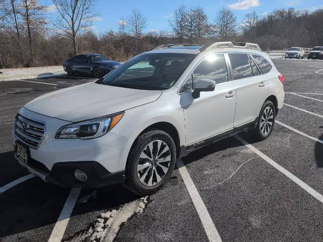
[[[45,124],[18,113],[14,133],[22,142],[37,149],[45,134]]]

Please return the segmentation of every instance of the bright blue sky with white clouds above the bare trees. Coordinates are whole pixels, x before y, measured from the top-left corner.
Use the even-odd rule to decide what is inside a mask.
[[[49,6],[49,10],[55,13],[55,10],[51,8],[51,0],[39,0],[39,3]],[[117,30],[120,17],[127,17],[131,10],[136,8],[147,18],[145,32],[170,30],[169,19],[174,10],[182,3],[188,7],[197,5],[203,7],[210,22],[219,8],[223,7],[231,8],[239,22],[242,21],[246,12],[256,11],[259,15],[265,15],[274,9],[282,8],[307,9],[309,11],[323,8],[322,0],[97,0],[97,10],[100,11],[101,16],[93,22],[92,29],[97,33],[110,29]]]

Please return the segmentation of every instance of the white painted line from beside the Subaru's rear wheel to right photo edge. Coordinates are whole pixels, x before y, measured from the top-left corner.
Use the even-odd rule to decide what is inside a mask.
[[[314,189],[312,189],[310,186],[308,186],[306,183],[304,183],[304,181],[302,181],[301,179],[299,179],[298,177],[293,175],[291,172],[286,170],[283,166],[279,165],[274,160],[272,160],[271,158],[269,158],[268,156],[263,154],[261,151],[259,151],[258,149],[256,149],[252,145],[250,145],[247,141],[245,141],[241,137],[235,135],[235,138],[237,140],[239,140],[242,144],[244,144],[247,148],[249,148],[254,153],[256,153],[258,156],[260,156],[262,159],[264,159],[266,162],[268,162],[269,164],[274,166],[277,170],[279,170],[284,175],[286,175],[288,178],[290,178],[292,181],[294,181],[294,183],[296,183],[298,186],[300,186],[302,189],[304,189],[307,193],[309,193],[314,198],[316,198],[318,201],[323,203],[323,196],[320,193],[316,192]]]

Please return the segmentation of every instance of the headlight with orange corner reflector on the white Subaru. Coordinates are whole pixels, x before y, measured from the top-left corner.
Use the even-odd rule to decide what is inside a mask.
[[[94,139],[109,132],[124,112],[65,125],[56,134],[57,139]]]

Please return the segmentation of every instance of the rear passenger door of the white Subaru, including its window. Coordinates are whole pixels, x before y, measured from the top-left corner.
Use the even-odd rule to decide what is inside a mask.
[[[228,53],[237,93],[234,127],[255,122],[268,93],[268,81],[247,53]]]

